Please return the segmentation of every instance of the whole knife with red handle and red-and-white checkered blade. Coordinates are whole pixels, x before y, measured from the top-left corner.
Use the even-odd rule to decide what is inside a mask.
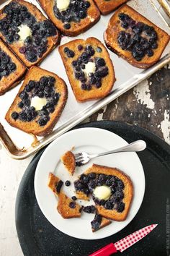
[[[153,231],[153,229],[155,229],[157,225],[158,224],[152,224],[146,226],[143,229],[139,229],[138,231],[135,231],[132,234],[125,236],[123,239],[115,242],[115,244],[107,244],[107,246],[102,247],[101,249],[92,253],[89,256],[109,256],[113,253],[116,253],[117,251],[123,252],[125,251],[125,249],[128,249],[140,239],[143,239],[143,237],[147,236],[147,234]]]

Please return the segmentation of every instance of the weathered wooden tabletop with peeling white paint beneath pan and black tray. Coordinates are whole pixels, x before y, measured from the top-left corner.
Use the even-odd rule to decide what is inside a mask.
[[[170,67],[164,67],[148,80],[109,103],[86,121],[116,120],[148,129],[170,144]],[[16,161],[0,150],[0,255],[20,256],[14,204],[19,182],[32,157]]]

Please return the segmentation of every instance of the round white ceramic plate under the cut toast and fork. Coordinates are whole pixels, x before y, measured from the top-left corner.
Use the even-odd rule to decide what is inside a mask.
[[[67,150],[71,150],[72,147],[75,147],[73,150],[74,153],[81,151],[100,153],[127,144],[128,142],[123,140],[120,136],[104,129],[81,128],[67,132],[61,137],[58,137],[58,139],[54,140],[48,148],[45,149],[35,172],[35,195],[42,213],[55,228],[69,236],[79,239],[102,239],[117,233],[132,221],[140,208],[145,192],[143,166],[136,153],[116,153],[95,158],[85,166],[77,167],[73,176],[68,174],[68,171],[66,171],[63,163],[60,161],[61,155]],[[66,180],[71,181],[71,186],[66,187],[64,185],[63,191],[66,192],[66,195],[72,197],[74,195],[73,181],[77,176],[83,173],[86,168],[89,168],[92,163],[120,168],[120,170],[130,176],[134,185],[134,198],[128,218],[122,222],[112,221],[109,226],[94,233],[91,231],[90,223],[94,218],[94,214],[82,213],[81,218],[62,218],[56,209],[57,198],[47,186],[48,174],[49,172],[53,172],[56,176],[61,178],[63,182],[66,182]],[[80,202],[81,205],[91,205],[91,202],[84,200],[78,200],[78,202]]]

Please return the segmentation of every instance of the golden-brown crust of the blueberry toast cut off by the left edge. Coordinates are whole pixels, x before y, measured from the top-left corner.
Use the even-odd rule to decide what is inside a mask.
[[[2,95],[6,93],[7,90],[19,84],[19,82],[22,80],[22,77],[24,76],[24,72],[26,72],[26,67],[24,66],[24,64],[22,64],[21,61],[19,61],[19,59],[17,59],[17,56],[15,56],[12,51],[9,50],[9,48],[2,40],[0,40],[0,48],[1,51],[4,51],[12,59],[12,62],[16,64],[16,69],[14,70],[14,72],[6,77],[1,77],[0,95]]]

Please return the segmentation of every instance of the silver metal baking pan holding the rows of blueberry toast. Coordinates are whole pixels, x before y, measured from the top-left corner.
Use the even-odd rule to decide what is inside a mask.
[[[9,1],[0,1],[0,8],[4,7],[4,5],[8,2]],[[37,4],[37,1],[30,0],[30,2],[41,9],[40,5]],[[166,8],[167,10],[164,12],[165,6],[164,9],[161,7],[160,0],[131,0],[128,1],[128,4],[130,7],[133,7],[153,23],[158,25],[158,27],[161,27],[170,34],[169,17],[167,15],[169,8]],[[94,27],[91,27],[91,29],[86,31],[86,33],[83,33],[76,38],[89,38],[90,36],[94,36],[104,43],[103,32],[106,29],[107,23],[111,16],[112,14],[105,17],[101,16],[101,19],[96,25],[94,25]],[[63,36],[61,39],[61,44],[73,39],[75,38]],[[66,84],[68,85],[68,101],[66,103],[66,107],[64,108],[58,123],[55,125],[53,132],[46,137],[35,138],[32,137],[32,135],[27,135],[19,129],[11,127],[4,119],[6,111],[12,104],[15,95],[17,95],[20,85],[17,85],[16,88],[9,90],[9,92],[2,95],[0,97],[0,140],[4,146],[4,149],[6,150],[6,153],[15,159],[27,158],[28,156],[37,152],[37,150],[40,150],[40,148],[47,145],[49,142],[53,141],[56,137],[59,137],[64,132],[68,131],[68,129],[71,129],[91,114],[94,114],[94,112],[98,111],[99,108],[102,108],[111,101],[115,100],[115,98],[133,88],[139,82],[149,77],[151,74],[153,74],[153,72],[156,72],[156,70],[164,67],[164,65],[170,61],[170,43],[168,46],[166,46],[161,59],[153,67],[148,69],[138,69],[128,64],[128,62],[119,58],[111,51],[109,51],[109,54],[113,61],[115,75],[117,78],[114,88],[112,89],[112,92],[107,95],[107,97],[99,101],[90,101],[87,103],[76,102],[71,90],[71,85],[68,82],[66,71],[63,67],[63,62],[61,61],[61,56],[58,53],[58,48],[55,48],[53,52],[49,54],[44,61],[42,61],[40,67],[58,74],[63,78],[63,80],[66,81]]]

